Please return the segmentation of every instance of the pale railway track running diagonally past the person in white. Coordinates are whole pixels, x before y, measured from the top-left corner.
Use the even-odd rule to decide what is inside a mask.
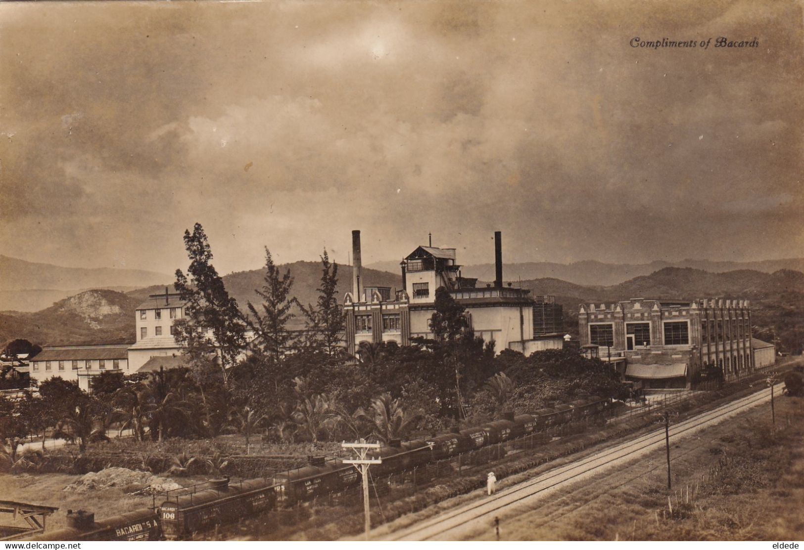
[[[777,386],[777,389],[779,388],[781,385]],[[671,426],[671,440],[688,437],[750,407],[769,401],[769,399],[770,389],[766,388],[736,401],[720,405],[706,413],[688,418]],[[546,471],[534,479],[499,491],[490,497],[484,497],[478,502],[469,503],[433,518],[425,519],[409,528],[385,535],[378,533],[377,538],[381,540],[457,540],[460,538],[461,531],[490,528],[495,516],[511,511],[514,507],[527,506],[572,483],[603,474],[635,458],[661,449],[665,444],[664,438],[663,429],[655,430],[628,442],[601,450],[577,462]],[[467,528],[467,524],[471,527]]]

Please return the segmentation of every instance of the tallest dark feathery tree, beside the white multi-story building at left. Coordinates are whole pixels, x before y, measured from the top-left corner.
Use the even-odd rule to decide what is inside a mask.
[[[212,251],[200,223],[192,234],[184,232],[184,246],[190,259],[187,275],[176,270],[174,286],[185,303],[186,317],[174,323],[174,338],[187,348],[200,381],[205,374],[215,369],[210,356],[219,357],[219,377],[228,387],[228,369],[236,365],[246,344],[246,326],[237,300],[229,295],[215,267],[212,266]]]

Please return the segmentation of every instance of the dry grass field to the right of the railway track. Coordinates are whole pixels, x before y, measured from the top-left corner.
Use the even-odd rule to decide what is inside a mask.
[[[501,538],[801,540],[804,399],[779,397],[776,411],[775,435],[763,405],[672,446],[671,491],[662,450],[507,520]]]

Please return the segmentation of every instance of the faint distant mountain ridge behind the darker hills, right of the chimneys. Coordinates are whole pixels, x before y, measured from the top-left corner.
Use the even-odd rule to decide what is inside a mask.
[[[377,262],[369,264],[375,269],[384,269],[392,273],[399,273],[399,262]],[[610,286],[623,283],[642,275],[650,275],[664,267],[691,267],[693,269],[709,271],[710,273],[723,273],[726,271],[752,270],[763,273],[773,273],[780,269],[804,271],[804,259],[763,260],[759,262],[712,262],[710,260],[686,259],[682,262],[650,263],[604,263],[587,260],[576,263],[551,262],[525,262],[506,263],[503,266],[503,279],[517,282],[519,279],[553,278],[585,286]],[[477,277],[484,281],[494,280],[494,264],[480,263],[461,267],[466,277]]]

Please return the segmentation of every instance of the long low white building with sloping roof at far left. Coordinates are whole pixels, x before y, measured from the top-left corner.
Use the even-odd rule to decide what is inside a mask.
[[[89,391],[89,381],[100,373],[135,372],[129,368],[128,350],[128,344],[46,346],[31,359],[31,381],[61,377]]]

